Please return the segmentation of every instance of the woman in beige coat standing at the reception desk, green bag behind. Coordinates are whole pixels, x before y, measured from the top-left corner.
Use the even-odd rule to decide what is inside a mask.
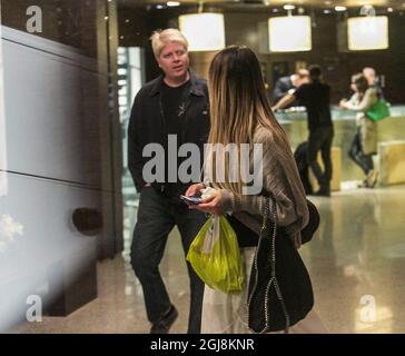
[[[377,122],[367,118],[365,112],[378,101],[378,93],[371,87],[363,73],[352,77],[355,93],[350,100],[342,100],[340,108],[357,111],[357,129],[349,150],[349,157],[359,166],[366,178],[359,185],[374,188],[378,172],[374,169],[373,156],[377,152]]]

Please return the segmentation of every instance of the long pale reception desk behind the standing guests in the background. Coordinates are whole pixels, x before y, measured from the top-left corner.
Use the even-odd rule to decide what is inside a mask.
[[[391,108],[392,117],[378,122],[378,142],[388,144],[393,141],[405,140],[405,106],[393,106]],[[300,142],[306,141],[308,137],[307,113],[305,109],[284,110],[276,112],[278,121],[286,130],[290,145],[295,149]],[[363,171],[349,159],[348,150],[350,148],[354,135],[356,132],[356,113],[348,110],[342,110],[338,107],[332,108],[332,118],[335,128],[333,146],[339,148],[342,152],[342,171],[339,175],[342,181],[360,180],[364,178]],[[392,145],[389,145],[392,146]],[[379,145],[381,147],[381,145]],[[386,146],[383,145],[385,148]],[[397,149],[397,148],[395,148]],[[385,155],[384,155],[385,156]],[[382,157],[383,158],[383,157]],[[405,159],[405,158],[404,158]],[[379,166],[381,157],[375,157],[376,167]],[[397,165],[397,162],[396,162]],[[388,169],[389,162],[383,165],[385,170]],[[402,166],[401,166],[402,167]],[[396,176],[398,175],[396,168]],[[383,172],[386,177],[387,172]],[[404,171],[405,177],[405,171]],[[384,182],[389,180],[384,179]],[[394,180],[393,180],[394,181]],[[396,179],[395,182],[401,182]]]

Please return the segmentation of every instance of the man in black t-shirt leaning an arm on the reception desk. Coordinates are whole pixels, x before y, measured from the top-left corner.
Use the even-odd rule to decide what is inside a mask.
[[[330,88],[323,82],[319,66],[309,68],[309,83],[304,83],[294,92],[285,96],[274,106],[273,110],[284,109],[295,100],[299,100],[307,110],[308,118],[308,150],[307,162],[313,170],[319,190],[316,196],[330,196],[332,158],[330,148],[334,138],[334,127],[330,115]],[[318,151],[322,154],[324,171],[317,161]]]

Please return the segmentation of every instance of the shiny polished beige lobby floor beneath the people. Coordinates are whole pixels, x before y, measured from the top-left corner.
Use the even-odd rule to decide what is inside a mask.
[[[326,327],[332,333],[405,333],[405,186],[348,189],[312,200],[322,225],[300,254]],[[127,221],[127,228],[131,225]],[[185,333],[187,327],[189,291],[182,256],[174,230],[161,264],[180,310],[172,333]],[[99,297],[68,317],[45,317],[17,332],[148,333],[142,291],[127,254],[99,263],[98,284]]]

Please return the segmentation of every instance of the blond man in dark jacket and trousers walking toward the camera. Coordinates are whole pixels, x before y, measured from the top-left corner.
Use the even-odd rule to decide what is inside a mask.
[[[209,132],[209,100],[207,83],[189,70],[188,42],[176,29],[156,31],[151,36],[155,58],[162,75],[146,83],[137,93],[128,128],[128,160],[135,186],[140,192],[138,219],[131,245],[131,264],[139,278],[151,334],[166,334],[177,318],[177,309],[159,273],[170,230],[178,227],[185,254],[205,222],[205,216],[190,210],[179,199],[191,184],[169,178],[178,168],[168,155],[169,142],[177,147],[196,144],[202,162],[204,144]],[[165,149],[165,180],[146,181],[144,169],[150,159],[142,155],[149,144]],[[170,146],[171,147],[171,146]],[[176,151],[177,152],[177,151]],[[170,158],[170,159],[169,159]],[[188,333],[200,332],[204,284],[187,263],[190,279],[190,312]],[[178,277],[176,277],[176,281]]]

